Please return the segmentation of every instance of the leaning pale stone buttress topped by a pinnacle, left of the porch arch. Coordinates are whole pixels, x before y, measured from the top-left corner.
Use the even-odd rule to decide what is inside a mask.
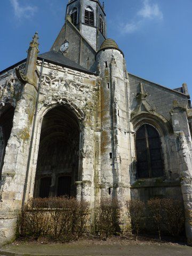
[[[1,179],[0,202],[0,245],[15,237],[18,213],[21,211],[23,189],[37,98],[38,73],[36,61],[38,55],[37,33],[28,50],[25,74],[15,69],[19,81],[23,84],[20,100],[14,111],[13,127],[7,143]]]

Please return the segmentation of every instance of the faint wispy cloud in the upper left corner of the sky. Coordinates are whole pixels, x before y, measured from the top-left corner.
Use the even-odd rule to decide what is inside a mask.
[[[37,10],[36,6],[30,6],[30,5],[21,6],[21,4],[19,3],[19,0],[10,0],[10,2],[13,6],[15,17],[19,19],[23,17],[30,18],[31,16],[34,15],[34,13]]]

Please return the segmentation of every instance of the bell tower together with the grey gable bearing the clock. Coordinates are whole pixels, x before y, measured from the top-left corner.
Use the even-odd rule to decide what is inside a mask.
[[[95,54],[106,37],[104,5],[101,5],[99,0],[69,0],[65,24],[55,39],[51,51],[60,53],[61,55],[58,55],[60,58],[63,55],[94,73]]]

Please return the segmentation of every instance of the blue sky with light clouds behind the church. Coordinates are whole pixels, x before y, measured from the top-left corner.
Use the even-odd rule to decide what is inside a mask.
[[[65,20],[68,0],[0,0],[0,70],[26,58],[39,33],[48,51]],[[108,37],[124,52],[127,70],[192,95],[192,0],[105,0]]]

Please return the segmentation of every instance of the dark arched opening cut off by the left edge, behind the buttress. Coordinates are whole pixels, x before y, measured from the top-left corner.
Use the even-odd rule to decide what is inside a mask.
[[[4,107],[0,113],[0,180],[4,165],[5,149],[13,127],[14,108],[10,105]]]

